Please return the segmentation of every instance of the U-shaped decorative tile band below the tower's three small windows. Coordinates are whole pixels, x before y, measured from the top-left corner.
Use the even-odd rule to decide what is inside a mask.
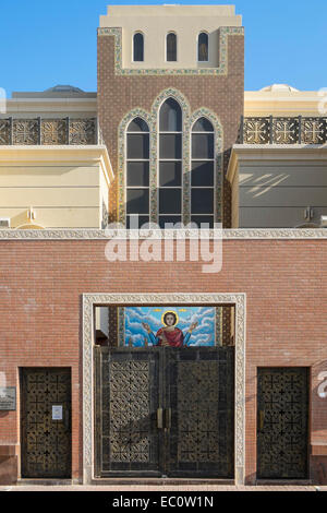
[[[228,36],[244,36],[244,27],[225,26],[219,28],[218,68],[184,69],[131,69],[122,65],[122,28],[100,27],[98,36],[114,36],[114,71],[117,75],[227,75],[228,74]]]

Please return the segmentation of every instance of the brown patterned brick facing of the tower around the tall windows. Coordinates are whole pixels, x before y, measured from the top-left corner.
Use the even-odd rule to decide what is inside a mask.
[[[98,36],[98,117],[113,172],[117,175],[118,127],[133,108],[149,111],[156,97],[166,88],[179,90],[192,111],[199,107],[213,110],[223,127],[225,172],[230,148],[235,143],[244,102],[244,37],[228,37],[228,75],[145,75],[114,74],[114,36]],[[230,187],[223,182],[223,223],[231,224]],[[110,190],[110,220],[116,219],[117,183]]]

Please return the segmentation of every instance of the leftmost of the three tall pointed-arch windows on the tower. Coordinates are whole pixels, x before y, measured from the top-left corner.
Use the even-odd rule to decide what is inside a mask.
[[[131,226],[133,214],[138,214],[138,226]],[[148,222],[149,129],[142,118],[134,118],[126,131],[126,227],[138,228]]]

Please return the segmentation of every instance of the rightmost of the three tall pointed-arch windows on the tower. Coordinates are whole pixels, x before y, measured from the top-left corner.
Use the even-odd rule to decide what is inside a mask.
[[[191,220],[211,228],[215,220],[215,130],[207,118],[192,128]]]

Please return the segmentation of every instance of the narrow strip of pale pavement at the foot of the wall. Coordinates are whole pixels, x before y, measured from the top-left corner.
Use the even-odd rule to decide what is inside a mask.
[[[0,487],[1,491],[327,491],[327,487],[314,486],[256,486],[235,487],[223,485],[207,486],[14,486]]]

